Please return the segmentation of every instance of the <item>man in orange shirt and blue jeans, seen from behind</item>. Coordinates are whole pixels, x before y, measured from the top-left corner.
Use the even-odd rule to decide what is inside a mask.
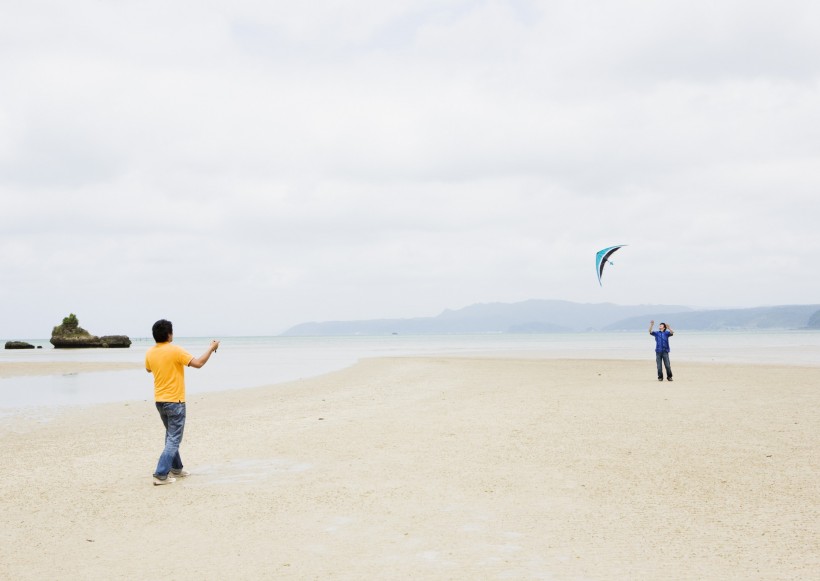
[[[182,468],[179,445],[185,429],[185,368],[200,368],[208,362],[219,341],[211,341],[208,350],[194,357],[182,347],[172,345],[174,327],[171,321],[160,319],[151,328],[156,345],[145,354],[145,370],[154,374],[154,400],[165,426],[165,449],[154,472],[154,485],[171,484],[176,478],[188,476]],[[170,475],[169,475],[170,474]]]

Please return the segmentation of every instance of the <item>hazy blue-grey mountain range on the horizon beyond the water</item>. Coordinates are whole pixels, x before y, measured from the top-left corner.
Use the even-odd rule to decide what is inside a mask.
[[[282,335],[447,335],[469,333],[576,333],[634,331],[649,320],[696,331],[820,329],[820,305],[693,310],[680,305],[622,306],[529,300],[447,309],[436,317],[302,323]]]

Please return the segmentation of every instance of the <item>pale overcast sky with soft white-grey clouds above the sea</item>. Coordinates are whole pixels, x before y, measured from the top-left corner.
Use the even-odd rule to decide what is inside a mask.
[[[820,4],[0,6],[0,337],[820,303]],[[613,256],[603,287],[595,253]]]

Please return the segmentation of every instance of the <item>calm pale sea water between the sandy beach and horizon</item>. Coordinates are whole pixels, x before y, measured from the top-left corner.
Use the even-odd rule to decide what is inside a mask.
[[[200,355],[209,338],[175,339]],[[62,350],[47,340],[35,350],[2,350],[4,361],[143,363],[153,340],[130,349]],[[188,369],[189,395],[270,385],[342,369],[359,359],[406,355],[524,358],[645,359],[654,372],[654,340],[646,332],[549,335],[446,335],[388,337],[232,337],[203,369]],[[687,333],[672,338],[672,363],[685,361],[820,365],[820,332]],[[87,405],[153,397],[151,376],[138,370],[0,379],[0,415],[31,406]]]

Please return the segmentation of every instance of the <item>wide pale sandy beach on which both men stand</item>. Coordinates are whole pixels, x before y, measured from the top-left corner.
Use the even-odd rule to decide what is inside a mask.
[[[189,393],[161,487],[151,401],[6,418],[0,578],[816,579],[820,368],[675,372],[384,358]]]

